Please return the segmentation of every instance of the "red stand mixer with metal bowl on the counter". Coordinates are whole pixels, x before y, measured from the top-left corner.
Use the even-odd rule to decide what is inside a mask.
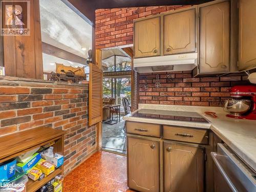
[[[234,86],[229,91],[233,99],[224,101],[226,116],[256,120],[256,86]]]

